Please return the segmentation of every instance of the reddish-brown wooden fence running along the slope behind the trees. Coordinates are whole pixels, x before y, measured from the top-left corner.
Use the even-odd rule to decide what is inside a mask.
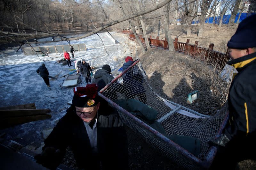
[[[135,35],[132,31],[124,30],[126,34],[129,33],[129,39],[132,41],[136,41]],[[122,32],[122,33],[123,33]],[[142,35],[139,35],[140,41],[145,45],[145,39]],[[156,39],[152,39],[151,36],[148,38],[149,44],[152,48],[159,48],[159,49],[169,49],[168,41],[166,40],[159,40],[158,37]],[[227,52],[224,54],[219,51],[213,50],[214,44],[209,44],[209,48],[198,47],[198,41],[195,41],[195,44],[189,44],[189,39],[187,42],[178,42],[178,38],[175,38],[173,41],[175,51],[182,52],[186,55],[190,55],[191,57],[200,58],[201,60],[207,60],[213,64],[218,63],[220,67],[224,67],[226,62],[229,60],[228,56],[228,49]]]

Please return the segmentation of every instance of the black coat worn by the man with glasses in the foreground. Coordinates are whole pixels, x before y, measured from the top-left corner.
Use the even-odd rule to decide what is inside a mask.
[[[76,163],[80,168],[97,169],[99,161],[104,169],[127,169],[128,147],[126,131],[123,127],[117,111],[112,107],[98,110],[97,120],[97,148],[96,157],[92,155],[92,148],[89,137],[86,133],[83,120],[74,111],[72,105],[67,110],[51,134],[44,141],[46,147],[60,149],[60,157],[63,158],[66,148],[69,146],[74,152]],[[62,159],[55,158],[56,161]]]

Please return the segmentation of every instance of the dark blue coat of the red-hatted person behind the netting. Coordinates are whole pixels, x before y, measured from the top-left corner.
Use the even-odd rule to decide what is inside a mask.
[[[123,71],[127,69],[130,65],[132,65],[132,61],[128,61],[123,64]],[[134,95],[138,95],[141,93],[146,92],[145,88],[143,87],[143,76],[140,72],[140,69],[137,65],[133,66],[132,69],[127,71],[123,75],[123,86],[124,86],[124,91],[126,93],[131,93]]]

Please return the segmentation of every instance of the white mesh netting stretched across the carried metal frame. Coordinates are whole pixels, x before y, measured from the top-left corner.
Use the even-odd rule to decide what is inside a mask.
[[[102,94],[110,100],[139,100],[158,112],[156,117],[156,120],[158,120],[171,112],[172,108],[165,104],[166,100],[156,95],[148,85],[145,75],[143,74],[144,72],[140,67],[140,63],[137,63],[116,82],[104,90]],[[189,112],[189,109],[182,109]],[[149,144],[165,156],[169,157],[173,162],[189,169],[199,167],[194,160],[189,159],[184,156],[184,154],[177,151],[175,146],[157,137],[148,128],[145,128],[141,123],[136,122],[131,115],[127,115],[120,110],[118,110],[118,112],[122,121],[127,126],[138,132]],[[211,117],[202,117],[199,115],[197,116],[198,118],[196,118],[176,112],[168,119],[164,120],[161,125],[164,127],[167,135],[181,135],[199,139],[201,148],[198,158],[204,160],[209,150],[208,142],[216,136],[226,113],[226,105],[215,116]]]

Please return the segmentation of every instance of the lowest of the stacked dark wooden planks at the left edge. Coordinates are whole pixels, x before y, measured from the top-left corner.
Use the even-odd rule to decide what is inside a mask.
[[[0,119],[0,129],[9,128],[11,126],[15,126],[23,123],[50,119],[50,118],[52,118],[51,114],[4,118],[4,119]]]

